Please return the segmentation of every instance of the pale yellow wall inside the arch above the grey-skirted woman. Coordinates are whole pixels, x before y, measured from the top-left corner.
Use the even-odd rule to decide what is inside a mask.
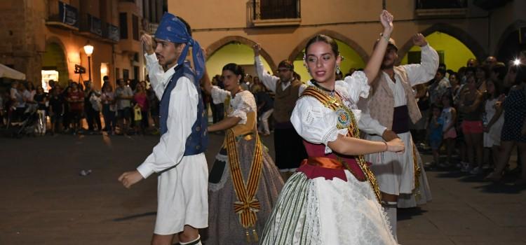
[[[263,58],[263,65],[267,71],[271,71],[269,63]],[[239,65],[254,65],[254,51],[248,45],[242,43],[229,43],[217,50],[206,61],[208,76],[213,77],[222,73],[223,66],[229,63]],[[271,73],[273,73],[271,71]]]

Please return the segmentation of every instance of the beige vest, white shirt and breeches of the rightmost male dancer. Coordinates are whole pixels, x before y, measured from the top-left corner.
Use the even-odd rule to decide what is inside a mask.
[[[389,44],[393,45],[393,44]],[[396,47],[396,46],[395,46]],[[412,87],[426,83],[435,77],[438,69],[438,54],[431,46],[422,47],[422,64],[407,64],[395,66],[394,79],[382,71],[377,79],[372,82],[372,92],[367,99],[367,108],[362,108],[370,116],[378,120],[387,129],[395,132],[405,144],[405,152],[400,153],[372,153],[365,155],[365,160],[372,162],[372,172],[378,180],[382,193],[391,195],[417,194],[420,174],[425,174],[422,165],[414,151],[409,129],[412,123],[422,118],[414,98]],[[367,134],[366,139],[371,141],[384,141],[382,135]],[[396,237],[396,202],[384,203],[386,212],[391,220],[392,232]]]

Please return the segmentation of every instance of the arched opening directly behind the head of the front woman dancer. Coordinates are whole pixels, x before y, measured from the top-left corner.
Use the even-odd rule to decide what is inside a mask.
[[[363,50],[363,48],[361,48],[360,45],[358,45],[356,42],[335,31],[318,31],[318,33],[314,34],[313,36],[316,36],[318,34],[328,35],[335,39],[336,43],[338,44],[338,50],[340,52],[340,55],[344,57],[344,60],[340,65],[340,69],[342,70],[342,73],[344,73],[344,75],[346,73],[349,73],[349,70],[351,68],[365,68],[365,60],[367,60],[368,58],[367,52],[365,52],[365,50]],[[304,41],[302,41],[302,43],[299,43],[299,45],[297,45],[297,47],[295,48],[295,50],[292,51],[292,54],[289,57],[289,59],[293,60],[294,70],[296,71],[296,73],[299,74],[299,76],[302,77],[302,81],[311,79],[311,75],[309,74],[309,72],[303,64],[303,55],[305,52],[306,43],[313,36],[309,36],[309,38],[306,38]]]

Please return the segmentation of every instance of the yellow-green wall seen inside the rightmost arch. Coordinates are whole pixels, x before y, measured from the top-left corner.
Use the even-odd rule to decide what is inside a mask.
[[[466,66],[468,59],[476,58],[464,43],[457,38],[441,32],[433,32],[426,36],[429,45],[435,50],[444,51],[444,63],[447,69],[458,71],[460,67]],[[419,51],[418,46],[413,46],[410,51]],[[401,64],[407,64],[407,54],[403,57]]]

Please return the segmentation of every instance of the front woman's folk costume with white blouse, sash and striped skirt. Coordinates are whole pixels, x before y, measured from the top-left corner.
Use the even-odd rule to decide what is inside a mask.
[[[309,159],[285,183],[260,244],[396,244],[363,156],[328,147],[339,134],[359,137],[356,102],[370,89],[365,73],[336,81],[333,94],[314,84],[309,82],[291,118]]]

